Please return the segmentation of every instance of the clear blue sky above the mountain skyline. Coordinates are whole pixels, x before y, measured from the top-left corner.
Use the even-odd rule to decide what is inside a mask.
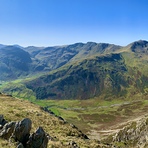
[[[0,44],[148,40],[147,0],[0,0]]]

